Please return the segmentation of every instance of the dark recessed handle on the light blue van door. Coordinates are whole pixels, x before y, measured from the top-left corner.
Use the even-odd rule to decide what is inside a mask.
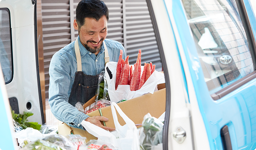
[[[221,136],[223,149],[232,150],[231,140],[229,136],[229,129],[227,125],[225,125],[223,128],[220,129],[220,136]]]

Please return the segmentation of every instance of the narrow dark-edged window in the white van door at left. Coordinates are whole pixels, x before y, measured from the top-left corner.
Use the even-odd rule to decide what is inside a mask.
[[[0,8],[0,63],[4,74],[5,84],[12,80],[12,45],[10,11]]]

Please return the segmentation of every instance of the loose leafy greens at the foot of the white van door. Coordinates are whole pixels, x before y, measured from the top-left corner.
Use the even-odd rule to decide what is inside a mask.
[[[28,127],[40,130],[41,125],[39,125],[37,122],[28,122],[27,117],[34,115],[32,112],[24,112],[24,115],[22,114],[16,114],[14,113],[14,110],[11,110],[12,119],[14,119],[16,122],[19,123],[20,127],[23,129],[26,129]]]

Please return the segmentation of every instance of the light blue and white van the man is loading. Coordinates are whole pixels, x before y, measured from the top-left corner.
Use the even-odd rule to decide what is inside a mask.
[[[163,149],[256,149],[256,19],[250,1],[146,1],[166,80]],[[33,12],[34,4],[31,1],[28,3],[29,10]],[[28,40],[17,35],[17,32],[24,33],[19,30],[24,25],[14,23],[15,19],[12,17],[19,19],[19,14],[15,13],[16,7],[12,6],[15,4],[17,3],[0,1],[0,14],[1,11],[9,14],[13,35],[9,41],[22,44],[19,40]],[[21,7],[18,8],[21,11]],[[33,19],[28,20],[26,25],[27,30],[31,29],[29,34],[33,34],[30,36],[33,42],[36,41],[34,25]],[[37,61],[35,45],[34,48],[30,47],[33,51],[31,55],[36,56],[34,63]],[[17,46],[13,46],[15,48]],[[11,55],[18,56],[19,51],[17,49],[17,54],[14,51]],[[19,75],[15,73],[20,70],[15,64],[26,63],[31,62],[23,62],[17,57],[12,65],[11,78],[17,77],[18,81]],[[36,88],[33,88],[37,89],[36,92],[31,91],[37,95],[37,98],[32,96],[32,106],[36,104],[33,109],[37,108],[41,112],[36,114],[39,116],[38,122],[44,122],[36,66],[35,64],[30,67],[34,69],[31,71],[34,75],[29,78],[37,83]],[[1,74],[0,112],[7,122],[9,109],[5,110],[2,103],[8,103],[6,93],[10,98],[9,93],[13,92],[9,89],[16,83],[13,86],[8,85],[12,82],[9,82],[6,73],[4,76]],[[20,84],[17,87],[23,86]],[[0,126],[8,129],[5,130],[5,135],[11,135],[9,125]],[[5,135],[2,134],[0,138],[1,149],[2,146],[4,149],[14,149],[11,136]]]

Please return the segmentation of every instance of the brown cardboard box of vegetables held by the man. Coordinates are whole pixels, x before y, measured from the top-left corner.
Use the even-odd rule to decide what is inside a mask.
[[[166,102],[166,89],[164,84],[158,86],[158,91],[155,91],[154,94],[146,94],[139,96],[137,98],[130,99],[128,101],[123,101],[117,105],[121,110],[128,116],[135,124],[142,124],[143,117],[150,113],[151,116],[158,118],[165,112],[165,102]],[[95,101],[91,101],[91,104]],[[88,104],[87,104],[88,105]],[[105,107],[101,109],[102,115],[108,118],[106,123],[107,127],[115,128],[113,116],[111,112],[111,107]],[[98,110],[95,110],[87,114],[88,116],[100,116]],[[125,125],[123,119],[117,113],[118,121],[120,125]],[[80,134],[83,137],[86,137],[86,142],[89,140],[97,139],[96,137],[89,134],[87,131],[82,129],[72,128],[68,125],[60,124],[58,126],[59,134],[66,136],[67,134]]]

